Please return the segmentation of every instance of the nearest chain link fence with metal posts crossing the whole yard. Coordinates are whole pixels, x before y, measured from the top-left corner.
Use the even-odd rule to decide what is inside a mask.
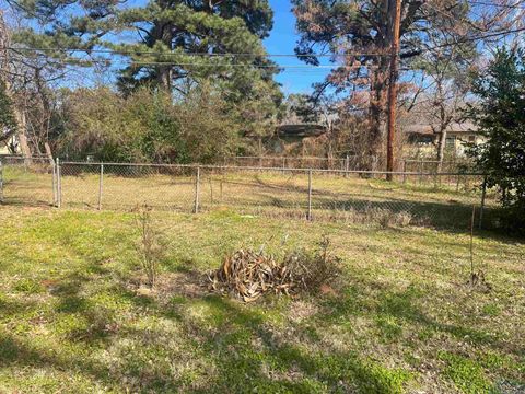
[[[498,206],[483,176],[258,166],[2,161],[4,204],[159,210],[468,228]]]

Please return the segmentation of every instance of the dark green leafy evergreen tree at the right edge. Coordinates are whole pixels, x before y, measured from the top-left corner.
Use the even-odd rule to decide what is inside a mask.
[[[478,73],[474,93],[480,100],[467,115],[486,142],[469,153],[488,175],[488,186],[501,190],[506,224],[525,233],[525,50],[498,50]]]

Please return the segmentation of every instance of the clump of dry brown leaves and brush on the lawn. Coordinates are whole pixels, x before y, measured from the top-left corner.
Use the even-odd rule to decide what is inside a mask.
[[[325,237],[315,253],[294,252],[282,260],[262,251],[240,250],[228,255],[222,266],[208,276],[209,288],[244,302],[254,302],[270,292],[287,296],[315,292],[340,271],[340,259],[328,248],[329,240]]]

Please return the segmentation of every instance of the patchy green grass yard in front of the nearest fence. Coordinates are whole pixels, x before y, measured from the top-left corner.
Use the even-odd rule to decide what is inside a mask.
[[[141,290],[125,212],[0,206],[0,392],[521,393],[525,244],[424,228],[154,215],[167,246]],[[238,247],[328,235],[335,293],[256,304],[208,293]],[[287,240],[284,246],[283,240]]]

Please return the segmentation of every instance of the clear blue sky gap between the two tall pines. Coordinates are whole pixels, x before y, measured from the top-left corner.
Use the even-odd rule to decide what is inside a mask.
[[[273,9],[273,30],[265,39],[268,54],[293,54],[299,38],[295,32],[295,16],[291,12],[292,4],[289,0],[270,0]],[[279,65],[305,66],[296,57],[272,58]],[[285,69],[276,80],[282,84],[285,94],[307,93],[313,82],[320,82],[329,72],[329,69]]]

